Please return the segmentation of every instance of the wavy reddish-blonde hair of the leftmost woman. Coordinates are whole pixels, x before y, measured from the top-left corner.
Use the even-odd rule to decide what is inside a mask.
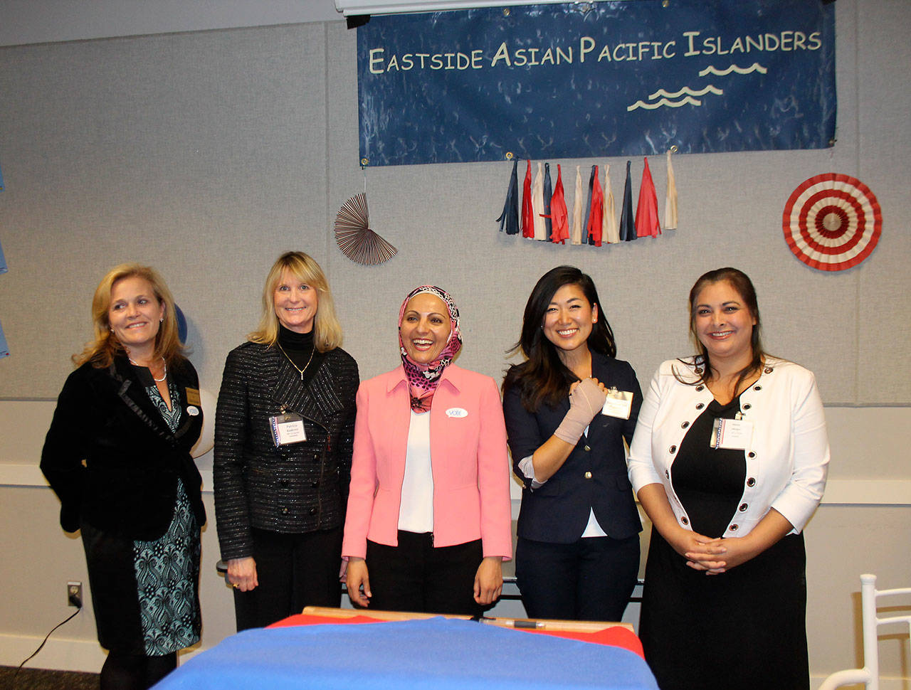
[[[165,307],[164,320],[159,325],[159,332],[155,336],[156,358],[163,357],[170,364],[173,360],[183,357],[183,345],[178,335],[177,309],[174,308],[174,298],[171,296],[168,285],[161,278],[159,272],[150,266],[126,263],[115,266],[105,274],[95,289],[92,298],[92,325],[95,328],[95,340],[87,343],[85,350],[73,355],[73,362],[79,366],[87,361],[97,369],[105,369],[114,362],[118,355],[126,353],[123,345],[111,331],[108,313],[111,306],[111,292],[118,280],[125,278],[141,278],[148,282],[158,299],[159,305]]]

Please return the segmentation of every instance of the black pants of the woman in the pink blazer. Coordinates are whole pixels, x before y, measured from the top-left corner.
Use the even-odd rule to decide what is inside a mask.
[[[478,615],[475,575],[481,540],[434,547],[434,535],[399,530],[398,546],[367,541],[370,608],[426,614]]]

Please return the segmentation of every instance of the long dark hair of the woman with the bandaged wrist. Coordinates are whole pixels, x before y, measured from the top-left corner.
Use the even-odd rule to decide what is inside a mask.
[[[607,315],[595,289],[595,282],[574,266],[558,266],[548,270],[531,290],[522,318],[522,333],[518,342],[508,350],[515,354],[521,350],[526,360],[507,370],[503,380],[503,391],[518,386],[522,395],[522,406],[529,412],[536,412],[541,403],[556,406],[565,398],[569,385],[578,377],[559,358],[557,348],[544,335],[541,326],[544,315],[557,290],[565,285],[578,285],[590,306],[598,305],[598,321],[591,327],[589,350],[605,357],[617,356],[617,343],[610,330]]]

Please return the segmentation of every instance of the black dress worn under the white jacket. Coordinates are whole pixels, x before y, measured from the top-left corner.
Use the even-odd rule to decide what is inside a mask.
[[[712,401],[692,423],[672,483],[695,532],[721,536],[738,512],[742,451],[711,449],[712,422],[740,409]],[[654,528],[642,593],[640,638],[661,690],[806,690],[806,555],[790,534],[728,573],[691,569]]]

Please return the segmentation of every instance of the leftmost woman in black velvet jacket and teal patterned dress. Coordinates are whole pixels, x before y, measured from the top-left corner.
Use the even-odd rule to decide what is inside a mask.
[[[61,525],[82,531],[102,690],[154,685],[200,639],[200,384],[175,314],[155,270],[108,271],[41,453]]]

